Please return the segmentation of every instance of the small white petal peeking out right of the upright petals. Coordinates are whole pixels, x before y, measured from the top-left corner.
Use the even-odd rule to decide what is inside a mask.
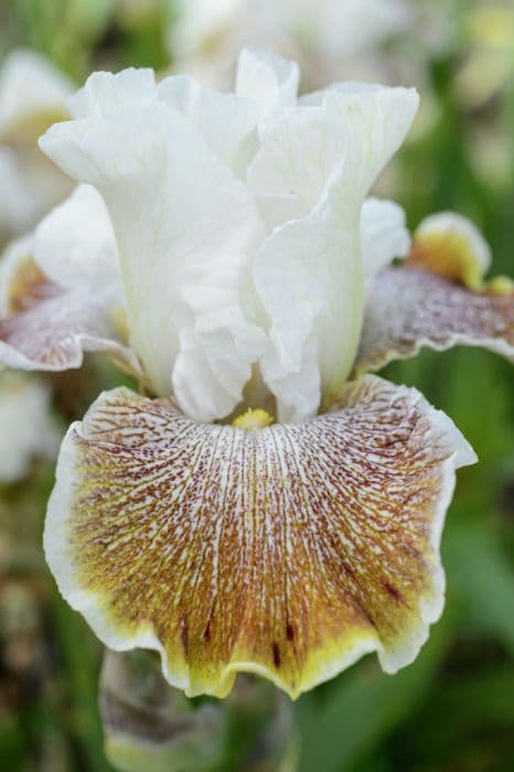
[[[370,288],[382,268],[408,255],[410,235],[401,206],[393,201],[367,199],[361,212],[361,242],[364,281]]]

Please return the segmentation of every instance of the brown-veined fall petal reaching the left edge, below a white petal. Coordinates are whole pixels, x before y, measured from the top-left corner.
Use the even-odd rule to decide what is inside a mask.
[[[3,279],[0,367],[72,369],[81,367],[85,352],[106,351],[124,369],[140,375],[115,320],[90,292],[58,287],[22,253]]]

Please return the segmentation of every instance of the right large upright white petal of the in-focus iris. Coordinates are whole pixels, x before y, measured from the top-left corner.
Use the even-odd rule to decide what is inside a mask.
[[[280,384],[274,392],[280,416],[301,420],[315,412],[317,406],[304,411],[297,383],[306,377],[304,346],[312,351],[317,344],[318,404],[334,399],[350,373],[364,311],[361,207],[416,106],[414,90],[347,84],[326,93],[320,107],[282,116],[263,132],[250,185],[265,216],[275,210],[283,217],[289,207],[289,222],[271,234],[255,262],[274,346],[263,374],[271,389]],[[309,362],[312,367],[312,357]],[[315,383],[313,373],[308,382]]]

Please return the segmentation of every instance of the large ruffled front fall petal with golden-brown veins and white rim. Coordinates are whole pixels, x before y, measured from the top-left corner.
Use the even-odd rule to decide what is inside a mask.
[[[443,602],[439,539],[475,457],[414,390],[366,376],[338,410],[256,431],[101,395],[65,438],[45,525],[61,592],[189,695],[237,671],[297,697],[363,654],[395,672]]]

